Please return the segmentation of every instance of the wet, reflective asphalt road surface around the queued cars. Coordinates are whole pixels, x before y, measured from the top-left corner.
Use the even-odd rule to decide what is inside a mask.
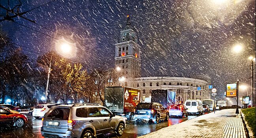
[[[204,113],[205,114],[205,113]],[[1,126],[0,138],[43,138],[41,135],[42,121],[32,116],[28,117],[28,123],[22,128],[14,126]],[[183,118],[170,117],[168,121],[161,121],[159,124],[149,125],[147,121],[136,123],[136,121],[126,121],[126,128],[122,136],[116,136],[114,132],[98,136],[98,138],[136,138],[150,132],[157,131],[164,127],[181,123],[197,116],[188,116]]]

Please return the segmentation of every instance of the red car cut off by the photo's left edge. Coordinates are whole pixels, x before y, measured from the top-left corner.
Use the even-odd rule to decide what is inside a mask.
[[[25,115],[0,107],[0,125],[23,127],[26,123],[28,118]]]

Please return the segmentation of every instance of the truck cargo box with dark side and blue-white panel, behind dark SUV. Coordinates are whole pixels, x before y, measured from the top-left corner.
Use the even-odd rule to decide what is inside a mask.
[[[175,91],[170,90],[151,90],[151,102],[162,104],[165,108],[175,104]]]

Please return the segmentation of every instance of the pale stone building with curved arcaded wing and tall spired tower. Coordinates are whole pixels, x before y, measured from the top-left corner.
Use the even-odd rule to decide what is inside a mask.
[[[141,89],[141,99],[151,97],[152,90],[176,91],[177,101],[187,99],[209,99],[208,84],[210,78],[198,76],[197,78],[184,77],[141,77],[141,46],[137,43],[137,36],[131,26],[130,16],[127,16],[126,26],[120,31],[120,37],[115,44],[115,67],[120,71],[119,82],[114,85],[128,86]],[[197,90],[201,87],[201,90]]]

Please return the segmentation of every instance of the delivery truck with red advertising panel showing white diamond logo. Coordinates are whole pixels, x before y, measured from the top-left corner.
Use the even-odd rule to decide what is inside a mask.
[[[116,115],[132,120],[134,108],[140,103],[140,89],[125,86],[105,87],[104,106]]]

